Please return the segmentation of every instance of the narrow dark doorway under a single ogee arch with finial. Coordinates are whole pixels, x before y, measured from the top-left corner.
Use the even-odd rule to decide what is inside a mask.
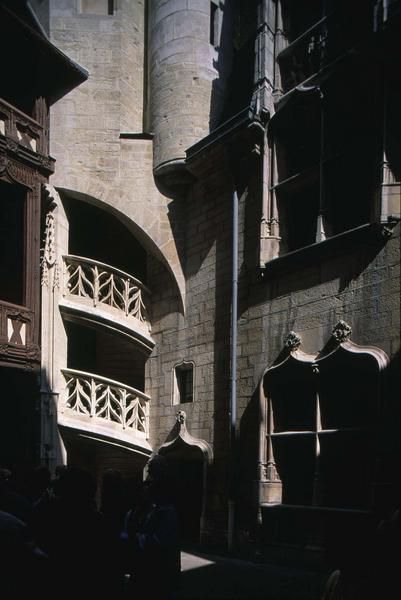
[[[166,457],[172,472],[182,540],[198,544],[205,530],[207,474],[213,450],[208,442],[189,433],[186,419],[186,413],[178,411],[173,437],[158,454]]]

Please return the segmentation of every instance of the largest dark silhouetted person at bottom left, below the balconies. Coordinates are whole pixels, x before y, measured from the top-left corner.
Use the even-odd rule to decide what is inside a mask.
[[[35,519],[38,543],[49,555],[54,595],[110,597],[110,535],[96,510],[93,478],[82,469],[67,468],[54,489]]]

